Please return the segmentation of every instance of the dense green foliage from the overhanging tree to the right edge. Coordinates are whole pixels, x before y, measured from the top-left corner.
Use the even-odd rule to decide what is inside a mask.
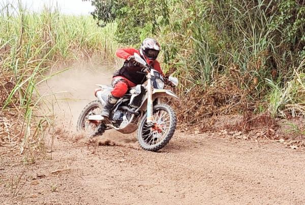
[[[93,0],[99,4],[94,16],[103,22],[115,19],[120,43],[138,45],[143,38],[155,36],[162,43],[165,66],[180,74],[186,94],[232,88],[242,93],[247,109],[278,113],[285,102],[270,106],[275,89],[285,90],[296,71],[303,73],[303,1],[113,2]],[[290,104],[299,104],[294,99]]]

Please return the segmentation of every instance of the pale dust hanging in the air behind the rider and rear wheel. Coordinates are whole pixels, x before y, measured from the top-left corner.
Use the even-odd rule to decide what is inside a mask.
[[[110,66],[110,67],[109,67]],[[95,100],[96,84],[111,83],[111,65],[74,64],[59,66],[53,73],[65,70],[50,78],[41,88],[46,97],[49,114],[54,115],[56,126],[64,125],[75,130],[78,115],[92,100]],[[110,68],[110,69],[109,69]]]

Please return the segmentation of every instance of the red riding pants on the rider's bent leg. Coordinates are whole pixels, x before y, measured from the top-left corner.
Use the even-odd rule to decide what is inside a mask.
[[[127,78],[121,77],[121,76],[115,76],[112,79],[112,87],[113,90],[111,91],[111,94],[114,97],[121,98],[123,97],[129,88],[135,87],[136,84],[128,80]]]

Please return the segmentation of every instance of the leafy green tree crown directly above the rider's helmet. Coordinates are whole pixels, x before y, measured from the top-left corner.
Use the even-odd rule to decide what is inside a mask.
[[[84,0],[89,1],[89,0]],[[100,26],[116,21],[116,40],[124,44],[138,44],[156,34],[168,23],[167,0],[90,0],[96,8],[92,15]]]

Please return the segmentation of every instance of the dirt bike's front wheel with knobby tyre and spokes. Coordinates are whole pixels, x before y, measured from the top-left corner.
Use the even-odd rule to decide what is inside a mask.
[[[177,118],[173,109],[168,105],[154,106],[155,122],[153,126],[146,124],[144,115],[138,129],[138,141],[142,149],[158,151],[170,141],[174,135]]]

